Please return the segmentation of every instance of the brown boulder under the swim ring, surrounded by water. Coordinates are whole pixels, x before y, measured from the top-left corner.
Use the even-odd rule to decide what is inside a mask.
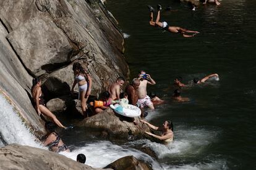
[[[150,128],[140,123],[139,118],[135,118],[135,120],[138,123],[137,125],[132,123],[132,119],[118,115],[111,108],[108,108],[101,113],[83,119],[76,125],[104,129],[109,135],[121,138],[128,136],[144,137],[145,131],[150,131]]]

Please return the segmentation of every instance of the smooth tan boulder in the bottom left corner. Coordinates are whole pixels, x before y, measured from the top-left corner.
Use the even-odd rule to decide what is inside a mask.
[[[98,169],[40,148],[7,145],[0,148],[0,169]]]

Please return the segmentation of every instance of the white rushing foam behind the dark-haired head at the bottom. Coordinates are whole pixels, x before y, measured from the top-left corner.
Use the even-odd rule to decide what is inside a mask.
[[[111,142],[104,140],[92,144],[86,144],[84,147],[77,147],[70,153],[62,152],[61,154],[71,158],[72,160],[76,160],[79,153],[85,154],[87,157],[86,164],[94,168],[103,168],[119,158],[133,155],[135,158],[151,164],[153,169],[163,169],[157,161],[146,153],[135,150],[134,148],[114,145]]]

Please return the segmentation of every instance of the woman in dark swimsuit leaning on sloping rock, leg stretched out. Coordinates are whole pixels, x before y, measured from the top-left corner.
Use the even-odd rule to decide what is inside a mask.
[[[45,107],[45,100],[43,99],[43,92],[41,91],[41,80],[39,78],[33,78],[33,86],[31,91],[35,110],[37,111],[38,115],[43,113],[43,115],[53,119],[54,123],[56,123],[59,127],[66,129],[67,127],[63,126],[56,116],[51,113],[47,107]]]

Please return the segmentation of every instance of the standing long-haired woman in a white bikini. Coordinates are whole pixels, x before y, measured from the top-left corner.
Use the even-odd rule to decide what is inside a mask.
[[[74,87],[76,84],[79,85],[79,99],[82,106],[83,116],[87,117],[87,100],[89,95],[91,94],[92,89],[92,78],[88,73],[85,73],[85,70],[83,69],[82,65],[79,62],[75,62],[73,65],[73,71],[74,71],[74,83],[71,88],[71,92],[74,92]]]

